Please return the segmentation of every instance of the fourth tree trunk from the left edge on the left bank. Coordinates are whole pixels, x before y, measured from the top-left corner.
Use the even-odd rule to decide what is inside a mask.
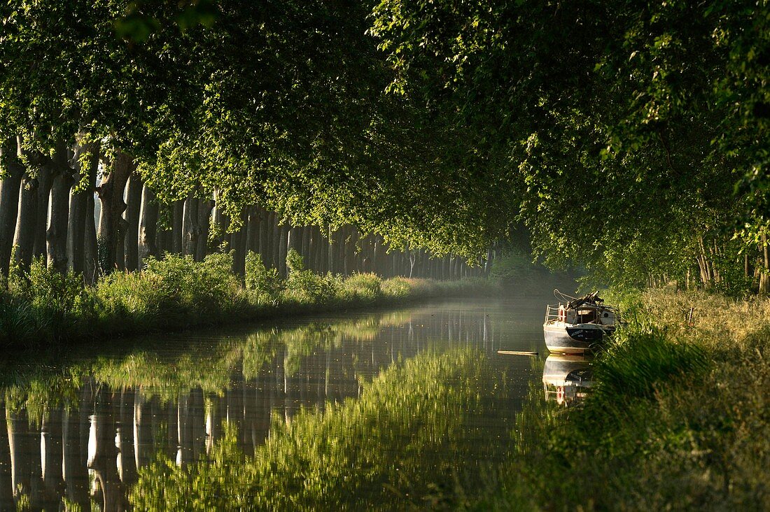
[[[48,266],[67,273],[67,229],[69,226],[69,190],[75,180],[69,166],[67,146],[59,143],[54,154],[55,176],[51,186],[51,220],[45,233]]]

